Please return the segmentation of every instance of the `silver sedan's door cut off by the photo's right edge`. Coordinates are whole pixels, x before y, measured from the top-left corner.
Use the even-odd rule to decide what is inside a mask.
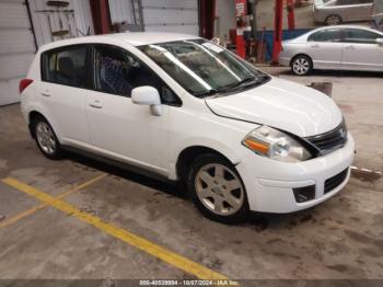
[[[372,31],[346,28],[343,67],[349,70],[383,70],[383,46],[376,38],[383,37]]]

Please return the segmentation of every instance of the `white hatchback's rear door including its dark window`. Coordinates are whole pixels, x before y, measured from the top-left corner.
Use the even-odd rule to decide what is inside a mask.
[[[88,45],[61,47],[42,55],[40,102],[58,126],[61,138],[80,145],[89,141],[84,112],[88,55]]]

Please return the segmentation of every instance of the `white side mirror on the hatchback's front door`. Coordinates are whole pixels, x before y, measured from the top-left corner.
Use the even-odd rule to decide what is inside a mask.
[[[150,85],[138,87],[131,91],[131,101],[138,105],[150,105],[152,115],[162,115],[162,104],[159,91]]]

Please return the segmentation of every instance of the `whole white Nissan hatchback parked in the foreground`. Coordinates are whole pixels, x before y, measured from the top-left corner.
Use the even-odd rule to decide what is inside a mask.
[[[76,149],[183,182],[222,222],[312,207],[349,180],[355,142],[332,99],[195,36],[55,42],[20,92],[47,158]]]

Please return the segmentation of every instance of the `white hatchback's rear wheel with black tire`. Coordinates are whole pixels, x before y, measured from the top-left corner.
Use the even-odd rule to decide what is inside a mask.
[[[37,147],[45,157],[51,160],[60,159],[62,150],[54,129],[49,123],[42,116],[38,116],[33,122],[33,131]]]

